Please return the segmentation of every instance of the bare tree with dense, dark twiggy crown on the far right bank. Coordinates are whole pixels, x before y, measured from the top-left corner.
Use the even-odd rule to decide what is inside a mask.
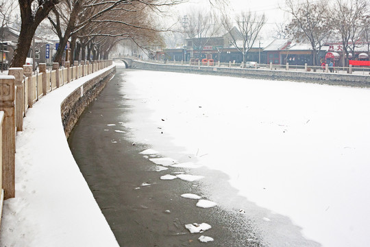
[[[332,33],[328,3],[305,0],[286,0],[286,12],[292,15],[288,33],[297,41],[308,41],[312,47],[312,62],[319,64],[319,52],[324,41]]]

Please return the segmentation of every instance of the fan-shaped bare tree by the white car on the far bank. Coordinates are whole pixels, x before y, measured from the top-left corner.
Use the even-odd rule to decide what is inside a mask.
[[[234,20],[229,16],[223,16],[223,27],[228,32],[230,43],[243,55],[243,64],[264,23],[266,23],[264,14],[258,15],[250,11],[236,14]]]

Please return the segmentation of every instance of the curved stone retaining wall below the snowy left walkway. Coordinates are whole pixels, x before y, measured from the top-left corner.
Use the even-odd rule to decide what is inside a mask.
[[[104,89],[109,80],[116,73],[116,67],[102,73],[96,78],[88,80],[83,86],[66,97],[60,106],[62,124],[66,137],[69,137],[73,127],[77,123],[88,104]]]

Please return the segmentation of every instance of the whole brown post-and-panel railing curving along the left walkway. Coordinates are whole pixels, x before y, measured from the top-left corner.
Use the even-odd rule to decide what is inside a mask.
[[[94,62],[65,62],[60,68],[58,62],[47,70],[46,64],[39,64],[39,73],[32,73],[32,65],[10,68],[8,75],[0,75],[0,213],[3,200],[15,196],[15,138],[16,131],[23,130],[23,117],[28,108],[58,87],[85,75],[112,65],[112,60]],[[0,214],[1,216],[1,214]]]

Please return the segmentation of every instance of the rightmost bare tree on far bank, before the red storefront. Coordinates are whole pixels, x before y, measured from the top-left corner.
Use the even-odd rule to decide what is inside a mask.
[[[348,65],[349,52],[354,56],[356,46],[360,45],[363,31],[366,27],[369,3],[366,0],[336,0],[334,5],[336,14],[332,14],[334,26],[341,36],[343,51],[343,64]]]

